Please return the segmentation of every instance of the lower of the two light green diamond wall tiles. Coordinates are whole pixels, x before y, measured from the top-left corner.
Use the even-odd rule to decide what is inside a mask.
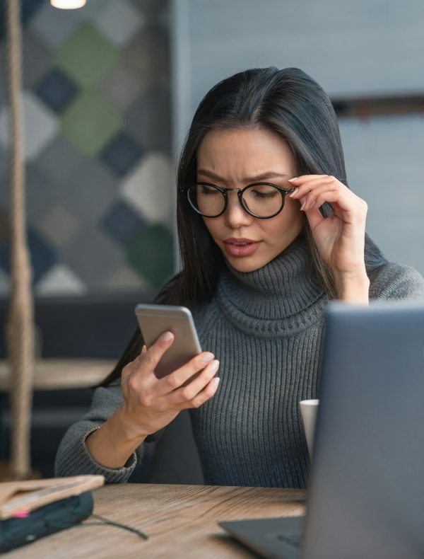
[[[61,118],[61,133],[86,156],[97,155],[121,128],[120,115],[93,92],[78,96]]]

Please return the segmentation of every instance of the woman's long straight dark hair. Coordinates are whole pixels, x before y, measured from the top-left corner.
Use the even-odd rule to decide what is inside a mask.
[[[214,129],[259,127],[285,139],[293,151],[299,175],[334,175],[346,186],[346,168],[336,114],[329,96],[298,68],[249,69],[213,86],[201,100],[179,159],[177,229],[182,270],[158,295],[167,304],[196,304],[213,296],[223,255],[204,221],[189,206],[185,190],[196,182],[197,150]],[[318,253],[305,217],[303,230],[311,257],[311,272],[330,298],[336,296],[331,270]],[[365,235],[365,267],[370,273],[387,260]],[[109,384],[140,352],[142,339],[134,334]]]

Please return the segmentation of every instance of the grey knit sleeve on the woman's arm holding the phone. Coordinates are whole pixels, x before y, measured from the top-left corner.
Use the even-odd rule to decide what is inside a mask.
[[[90,411],[81,420],[69,427],[59,444],[54,475],[57,477],[100,474],[107,483],[122,483],[128,480],[143,456],[143,445],[139,446],[122,468],[105,468],[97,463],[86,446],[89,434],[97,430],[122,403],[120,386],[96,388]]]

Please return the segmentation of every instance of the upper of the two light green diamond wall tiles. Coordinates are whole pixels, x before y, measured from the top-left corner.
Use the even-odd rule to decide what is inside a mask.
[[[93,25],[81,25],[59,48],[57,65],[81,87],[94,88],[117,64],[119,51]]]

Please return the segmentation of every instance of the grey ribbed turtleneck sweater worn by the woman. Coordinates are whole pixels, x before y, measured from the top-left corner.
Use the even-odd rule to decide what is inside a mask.
[[[305,246],[296,242],[254,272],[227,267],[213,300],[192,308],[201,347],[220,360],[216,395],[190,411],[206,484],[306,485],[309,459],[298,403],[317,397],[328,302],[307,275],[307,263]],[[423,277],[411,267],[389,263],[370,280],[373,299],[424,300]],[[95,463],[85,444],[121,403],[119,386],[95,391],[89,413],[59,446],[57,476],[129,478],[143,445],[114,470]]]

